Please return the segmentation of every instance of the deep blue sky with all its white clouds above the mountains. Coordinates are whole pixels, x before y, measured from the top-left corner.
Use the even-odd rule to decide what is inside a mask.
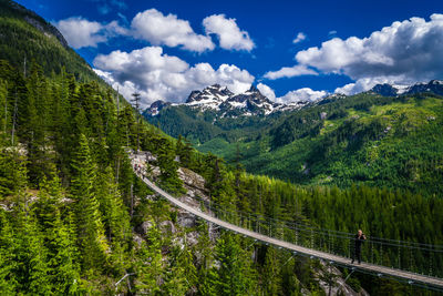
[[[443,79],[441,0],[18,2],[145,104],[216,82],[293,102]]]

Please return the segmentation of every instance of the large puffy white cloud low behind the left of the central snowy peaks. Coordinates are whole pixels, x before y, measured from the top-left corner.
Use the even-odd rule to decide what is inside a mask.
[[[189,67],[182,59],[163,53],[159,47],[99,54],[93,64],[95,72],[125,98],[140,92],[144,108],[156,100],[183,102],[190,91],[215,83],[236,93],[245,92],[255,79],[233,64],[222,64],[217,70],[208,63]]]

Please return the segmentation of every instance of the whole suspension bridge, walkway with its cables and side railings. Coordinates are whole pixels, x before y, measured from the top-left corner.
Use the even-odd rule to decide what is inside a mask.
[[[214,204],[208,205],[207,201],[203,200],[200,207],[197,208],[163,191],[141,172],[135,171],[135,173],[150,188],[174,206],[255,242],[287,249],[293,255],[322,259],[356,272],[443,292],[443,271],[440,268],[443,263],[443,245],[368,237],[367,246],[363,247],[364,262],[351,264],[350,244],[353,243],[353,234],[281,222],[250,213],[226,212]]]

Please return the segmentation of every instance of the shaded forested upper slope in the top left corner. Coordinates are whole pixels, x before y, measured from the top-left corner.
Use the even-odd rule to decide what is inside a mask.
[[[78,80],[95,80],[104,85],[55,27],[33,11],[11,0],[0,0],[0,60],[23,72],[35,61],[47,75],[65,69]]]

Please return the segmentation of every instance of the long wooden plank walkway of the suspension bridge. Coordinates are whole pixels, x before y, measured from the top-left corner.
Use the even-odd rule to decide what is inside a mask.
[[[404,272],[404,271],[396,269],[396,268],[390,268],[390,267],[374,265],[374,264],[368,264],[368,263],[361,263],[361,265],[356,265],[356,264],[351,264],[350,259],[347,257],[341,257],[341,256],[332,255],[332,254],[329,254],[326,252],[298,246],[298,245],[295,245],[295,244],[291,244],[291,243],[288,243],[285,241],[280,241],[280,239],[277,239],[274,237],[269,237],[269,236],[266,236],[266,235],[262,235],[262,234],[259,234],[259,233],[246,229],[246,228],[241,228],[237,225],[234,225],[228,222],[222,221],[219,218],[213,217],[213,216],[208,215],[207,213],[204,213],[195,207],[192,207],[192,206],[178,201],[177,198],[173,197],[171,194],[168,194],[167,192],[165,192],[162,188],[159,188],[158,186],[156,186],[150,180],[144,178],[141,175],[138,175],[138,177],[141,177],[146,183],[146,185],[148,187],[151,187],[154,192],[162,195],[164,198],[166,198],[169,203],[174,204],[175,206],[177,206],[186,212],[189,212],[189,213],[194,214],[195,216],[200,217],[207,222],[214,223],[216,225],[219,225],[226,229],[233,231],[240,235],[245,235],[250,238],[275,245],[277,247],[282,247],[282,248],[289,249],[292,253],[297,252],[297,253],[305,254],[308,256],[313,256],[315,258],[320,258],[320,259],[324,259],[327,262],[354,267],[357,269],[375,273],[375,274],[382,275],[382,276],[389,275],[389,276],[411,280],[411,284],[412,283],[425,284],[425,285],[431,285],[431,286],[437,287],[439,289],[443,288],[443,278],[430,277],[430,276],[425,276],[425,275],[414,274],[414,273]]]

